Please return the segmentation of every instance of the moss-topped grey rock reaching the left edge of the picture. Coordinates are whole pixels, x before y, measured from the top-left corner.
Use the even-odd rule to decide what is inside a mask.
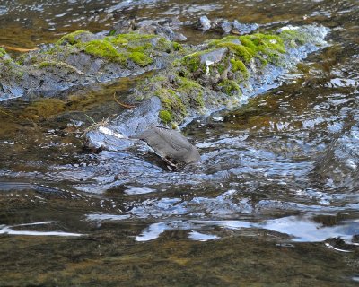
[[[105,36],[75,31],[48,48],[31,51],[14,62],[4,51],[0,100],[35,92],[54,95],[73,86],[163,68],[173,61],[174,44],[156,35]]]

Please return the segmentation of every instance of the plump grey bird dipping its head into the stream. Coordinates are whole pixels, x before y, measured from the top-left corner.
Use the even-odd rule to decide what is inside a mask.
[[[189,143],[185,136],[164,126],[150,126],[133,138],[146,142],[156,154],[171,166],[200,159],[196,147]]]

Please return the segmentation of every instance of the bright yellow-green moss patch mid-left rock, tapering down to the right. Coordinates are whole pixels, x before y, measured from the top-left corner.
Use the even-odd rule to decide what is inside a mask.
[[[84,52],[96,57],[105,57],[111,61],[125,63],[126,55],[118,52],[111,43],[106,40],[94,39],[84,44]]]

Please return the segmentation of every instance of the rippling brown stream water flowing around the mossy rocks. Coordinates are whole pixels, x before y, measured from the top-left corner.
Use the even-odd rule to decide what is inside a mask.
[[[276,87],[184,133],[201,161],[94,152],[83,132],[144,77],[0,107],[1,286],[355,286],[359,283],[359,4],[317,1],[0,1],[0,44],[201,15],[330,28]]]

